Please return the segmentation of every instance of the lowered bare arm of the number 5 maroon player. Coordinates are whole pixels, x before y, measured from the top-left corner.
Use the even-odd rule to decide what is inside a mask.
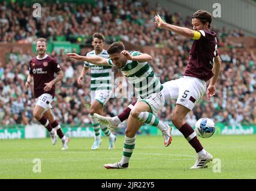
[[[210,100],[210,96],[215,95],[215,84],[219,77],[219,72],[221,72],[221,58],[219,56],[215,57],[215,61],[213,64],[212,72],[214,73],[214,76],[210,79],[210,84],[207,88],[207,99]]]

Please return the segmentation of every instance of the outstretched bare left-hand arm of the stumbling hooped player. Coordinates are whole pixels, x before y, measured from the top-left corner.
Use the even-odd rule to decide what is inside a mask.
[[[76,53],[67,53],[66,56],[74,58],[76,60],[87,61],[87,62],[95,64],[95,65],[106,65],[106,66],[109,66],[109,64],[107,63],[107,59],[103,58],[103,57],[98,57],[98,56],[92,56],[92,57],[80,56],[80,55],[78,55]]]

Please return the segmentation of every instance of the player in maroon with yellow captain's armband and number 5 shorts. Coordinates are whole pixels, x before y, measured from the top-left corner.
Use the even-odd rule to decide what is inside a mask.
[[[207,167],[213,158],[210,153],[206,152],[195,131],[185,121],[188,112],[193,109],[205,94],[206,82],[209,80],[207,99],[209,100],[210,96],[215,95],[215,84],[221,70],[221,59],[217,53],[216,33],[210,30],[211,22],[212,15],[204,10],[198,10],[192,15],[193,30],[165,23],[159,15],[155,16],[155,25],[157,27],[194,39],[189,52],[188,65],[182,78],[163,84],[165,100],[177,100],[171,121],[197,152],[197,160],[191,169]],[[107,124],[111,130],[115,130],[122,121],[128,118],[134,104],[135,102],[130,104],[124,112],[113,118],[95,116],[101,123]]]

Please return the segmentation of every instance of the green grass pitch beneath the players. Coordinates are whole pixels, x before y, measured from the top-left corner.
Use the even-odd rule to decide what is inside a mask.
[[[124,136],[114,150],[107,149],[106,137],[98,150],[91,150],[93,138],[72,138],[65,151],[60,140],[52,146],[50,138],[0,140],[0,178],[256,178],[256,135],[215,135],[200,141],[219,159],[209,168],[189,169],[195,153],[183,137],[173,137],[164,147],[160,136],[137,135],[129,168],[106,170],[104,164],[121,159]],[[41,172],[33,172],[35,158],[41,160]]]

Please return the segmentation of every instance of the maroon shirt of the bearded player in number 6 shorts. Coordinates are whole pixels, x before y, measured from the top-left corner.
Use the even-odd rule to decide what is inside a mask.
[[[50,91],[44,91],[46,85],[52,81],[55,76],[54,73],[58,73],[61,67],[55,60],[55,58],[47,56],[44,59],[39,60],[37,57],[32,58],[29,61],[29,73],[33,75],[34,79],[34,96],[35,98],[40,97],[42,94],[47,93],[54,97],[55,85],[52,86]]]

